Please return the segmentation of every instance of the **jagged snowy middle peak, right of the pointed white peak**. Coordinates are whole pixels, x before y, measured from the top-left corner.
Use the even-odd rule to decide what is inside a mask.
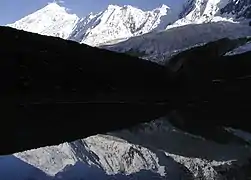
[[[109,5],[104,11],[81,19],[70,39],[97,46],[115,39],[163,30],[177,17],[166,5],[152,11],[142,11],[130,5]]]

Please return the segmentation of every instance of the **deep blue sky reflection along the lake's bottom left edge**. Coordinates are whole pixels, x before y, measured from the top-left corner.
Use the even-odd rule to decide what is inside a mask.
[[[76,178],[88,178],[97,180],[106,180],[113,178],[129,180],[132,179],[132,177],[134,179],[145,177],[146,180],[165,179],[159,174],[147,170],[142,170],[129,176],[123,174],[107,175],[107,173],[103,169],[96,166],[89,166],[82,162],[77,162],[74,165],[66,166],[62,170],[62,172],[57,173],[55,177],[51,177],[40,169],[24,162],[14,155],[1,157],[0,176],[4,180],[76,180]]]

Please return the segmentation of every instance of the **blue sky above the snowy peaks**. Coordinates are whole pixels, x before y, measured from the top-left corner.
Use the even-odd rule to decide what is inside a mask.
[[[54,0],[0,0],[0,25],[13,23],[53,1]],[[95,13],[104,10],[109,4],[132,5],[144,10],[151,10],[162,4],[175,8],[183,1],[184,0],[64,0],[60,4],[69,8],[71,13],[84,17],[90,12]]]

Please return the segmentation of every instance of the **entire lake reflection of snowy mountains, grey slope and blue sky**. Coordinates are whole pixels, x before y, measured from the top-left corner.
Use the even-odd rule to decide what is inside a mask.
[[[34,180],[215,180],[245,173],[242,166],[249,164],[250,154],[241,139],[219,144],[160,118],[129,130],[2,157],[0,173],[8,172],[5,177],[12,180],[25,180],[13,175],[21,170]]]

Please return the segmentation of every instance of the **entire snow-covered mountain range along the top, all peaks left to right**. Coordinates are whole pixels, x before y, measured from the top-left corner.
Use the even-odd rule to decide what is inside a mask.
[[[249,18],[250,6],[250,0],[187,0],[177,9],[162,5],[151,11],[109,5],[102,12],[80,18],[54,2],[7,26],[101,46],[183,25]]]

